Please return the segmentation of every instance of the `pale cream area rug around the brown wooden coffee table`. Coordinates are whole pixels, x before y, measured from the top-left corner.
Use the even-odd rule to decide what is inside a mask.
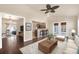
[[[43,40],[46,40],[46,39],[43,39]],[[23,54],[44,54],[38,49],[38,43],[43,40],[27,45],[25,47],[22,47],[20,48],[20,51]],[[68,40],[68,42],[58,41],[57,47],[54,50],[52,50],[50,54],[76,54],[76,53],[77,53],[77,46],[74,43],[74,41],[70,39]]]

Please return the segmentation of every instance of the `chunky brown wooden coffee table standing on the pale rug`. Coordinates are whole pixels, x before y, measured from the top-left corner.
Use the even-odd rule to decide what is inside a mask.
[[[57,46],[57,40],[44,40],[38,43],[38,48],[44,53],[51,53],[51,51]]]

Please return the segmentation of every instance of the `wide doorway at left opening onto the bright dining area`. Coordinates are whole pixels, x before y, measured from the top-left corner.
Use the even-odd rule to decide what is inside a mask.
[[[24,18],[2,18],[2,50],[0,53],[21,53],[24,46]]]

